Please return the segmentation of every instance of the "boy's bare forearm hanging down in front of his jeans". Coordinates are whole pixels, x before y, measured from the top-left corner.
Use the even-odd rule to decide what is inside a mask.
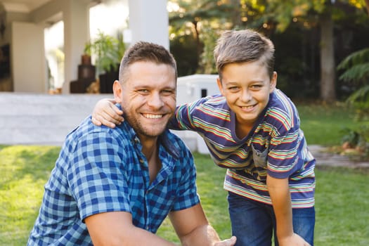
[[[288,179],[276,179],[268,175],[266,177],[266,186],[271,196],[274,214],[276,214],[279,245],[309,246],[308,242],[293,231],[291,195]]]

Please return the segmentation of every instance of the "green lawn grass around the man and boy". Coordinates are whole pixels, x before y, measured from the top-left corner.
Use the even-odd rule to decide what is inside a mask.
[[[351,112],[339,107],[299,106],[309,144],[339,143],[340,127],[353,127]],[[38,214],[43,186],[59,147],[0,145],[0,245],[25,245]],[[195,153],[202,207],[221,238],[231,236],[225,169]],[[315,245],[369,245],[369,170],[316,169]],[[158,234],[178,242],[168,220]]]

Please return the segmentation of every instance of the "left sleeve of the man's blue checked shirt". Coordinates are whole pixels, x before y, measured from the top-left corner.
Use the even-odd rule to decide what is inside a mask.
[[[119,168],[122,148],[106,132],[87,134],[75,146],[67,179],[82,221],[103,212],[131,212],[127,176]]]

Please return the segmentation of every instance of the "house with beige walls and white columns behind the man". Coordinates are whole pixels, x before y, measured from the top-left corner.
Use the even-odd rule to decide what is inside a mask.
[[[89,8],[117,1],[129,8],[131,42],[153,41],[169,48],[167,0],[0,0],[0,91],[48,92],[44,30],[63,20],[62,91],[70,93],[89,41]]]

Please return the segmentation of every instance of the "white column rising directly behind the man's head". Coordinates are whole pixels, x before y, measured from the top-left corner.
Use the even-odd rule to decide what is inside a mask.
[[[169,49],[167,0],[129,0],[131,44],[150,41]]]

